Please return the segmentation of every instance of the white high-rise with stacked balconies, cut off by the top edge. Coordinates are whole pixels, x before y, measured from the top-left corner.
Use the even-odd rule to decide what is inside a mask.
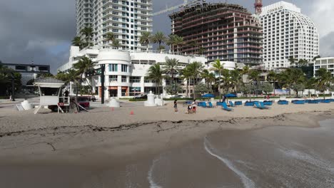
[[[141,32],[152,31],[152,0],[76,0],[76,31],[91,26],[93,44],[108,46],[104,36],[111,32],[121,44],[121,49],[146,51],[139,43]],[[148,46],[151,48],[151,46]]]

